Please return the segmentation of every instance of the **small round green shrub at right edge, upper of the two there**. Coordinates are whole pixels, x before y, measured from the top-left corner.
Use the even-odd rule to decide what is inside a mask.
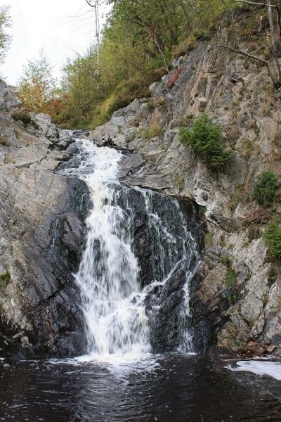
[[[280,180],[275,172],[266,170],[256,179],[253,188],[253,198],[263,207],[270,207],[276,197],[277,189],[280,186]]]

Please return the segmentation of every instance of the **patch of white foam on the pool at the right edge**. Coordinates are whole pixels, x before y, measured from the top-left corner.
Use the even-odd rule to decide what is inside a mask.
[[[256,373],[256,375],[268,375],[281,381],[281,362],[268,362],[261,360],[240,361],[236,363],[236,367],[226,366],[233,372],[247,371]]]

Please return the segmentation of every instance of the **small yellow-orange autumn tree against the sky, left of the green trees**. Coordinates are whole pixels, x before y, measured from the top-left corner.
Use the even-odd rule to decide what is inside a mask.
[[[50,100],[55,80],[52,66],[44,51],[39,51],[39,58],[27,61],[18,82],[18,96],[28,110],[40,112],[44,103]]]

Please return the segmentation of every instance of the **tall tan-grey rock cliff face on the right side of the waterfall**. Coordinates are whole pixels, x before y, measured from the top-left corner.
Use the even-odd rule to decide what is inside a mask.
[[[150,90],[152,98],[118,110],[91,137],[131,151],[122,162],[126,184],[190,198],[206,210],[206,250],[192,286],[198,347],[281,355],[281,276],[272,276],[262,238],[270,215],[251,200],[258,174],[280,174],[280,94],[265,68],[203,42]],[[235,148],[220,174],[179,142],[179,128],[203,111]]]

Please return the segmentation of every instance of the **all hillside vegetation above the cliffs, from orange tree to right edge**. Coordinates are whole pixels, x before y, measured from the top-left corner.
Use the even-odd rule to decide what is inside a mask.
[[[281,51],[281,0],[271,3],[278,7],[270,8],[266,3],[260,7],[262,18],[268,15],[272,49],[277,56]],[[23,71],[20,96],[25,106],[31,108],[32,104],[35,110],[49,113],[62,127],[96,127],[134,98],[149,97],[150,84],[169,72],[172,59],[188,53],[198,39],[208,39],[221,16],[231,26],[233,8],[253,7],[236,0],[103,0],[101,4],[111,4],[112,9],[98,50],[96,45],[89,46],[86,53],[67,60],[60,87],[52,90],[51,96],[48,91],[45,98],[43,87],[50,85],[49,72],[45,72],[46,79],[41,79],[36,69],[34,78],[31,66],[34,63],[30,62]],[[234,27],[230,32],[233,30]],[[218,37],[217,45],[265,65],[274,86],[281,84],[281,68],[277,62],[273,68],[259,53],[242,51],[237,39],[231,44],[229,39]],[[50,70],[48,63],[41,64]],[[170,88],[178,75],[176,73],[170,81]]]

